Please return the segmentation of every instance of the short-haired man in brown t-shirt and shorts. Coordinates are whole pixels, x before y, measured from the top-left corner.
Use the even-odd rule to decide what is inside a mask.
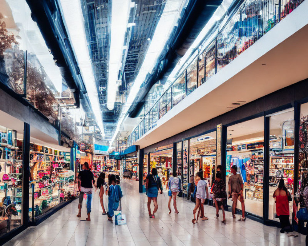
[[[240,200],[242,205],[242,216],[239,221],[245,221],[245,204],[244,204],[244,183],[240,174],[237,174],[237,166],[231,167],[232,175],[229,177],[229,198],[232,197],[232,218],[235,219],[235,210],[237,205],[237,199]]]

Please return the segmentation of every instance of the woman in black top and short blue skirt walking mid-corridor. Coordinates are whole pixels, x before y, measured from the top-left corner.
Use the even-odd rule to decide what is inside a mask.
[[[148,212],[150,218],[155,219],[155,213],[158,209],[157,204],[157,196],[158,196],[158,188],[160,188],[160,194],[163,194],[163,187],[161,185],[160,177],[157,176],[156,168],[152,169],[152,174],[149,174],[146,179],[146,189],[148,196]],[[154,210],[151,213],[151,201],[154,203]]]

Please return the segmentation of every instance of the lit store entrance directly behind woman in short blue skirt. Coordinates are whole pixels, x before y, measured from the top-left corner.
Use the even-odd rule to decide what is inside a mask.
[[[152,168],[157,169],[164,189],[167,188],[169,177],[172,176],[172,154],[173,148],[159,150],[150,154],[150,172]]]

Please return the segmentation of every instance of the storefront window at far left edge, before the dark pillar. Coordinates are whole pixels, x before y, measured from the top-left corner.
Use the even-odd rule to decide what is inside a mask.
[[[23,130],[20,125],[18,134]],[[22,225],[22,140],[0,126],[0,236]]]

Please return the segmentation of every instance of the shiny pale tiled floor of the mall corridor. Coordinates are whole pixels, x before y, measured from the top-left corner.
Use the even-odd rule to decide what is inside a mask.
[[[281,234],[279,228],[265,226],[253,220],[232,220],[230,212],[226,214],[227,224],[224,225],[220,222],[221,218],[215,218],[215,209],[209,206],[205,206],[209,220],[199,220],[197,224],[192,224],[194,204],[178,197],[180,213],[172,212],[169,215],[167,192],[159,194],[156,219],[149,219],[147,197],[138,193],[138,182],[123,181],[121,185],[124,193],[122,211],[126,214],[127,225],[115,227],[115,224],[107,222],[107,217],[101,214],[98,194],[95,193],[91,222],[81,221],[86,218],[85,205],[82,217],[76,217],[76,200],[5,245],[305,245],[303,235],[294,238],[287,233]]]

